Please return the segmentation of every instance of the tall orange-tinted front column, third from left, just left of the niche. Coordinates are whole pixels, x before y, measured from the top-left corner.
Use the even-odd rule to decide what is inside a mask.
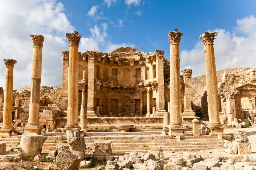
[[[69,41],[68,120],[64,130],[80,131],[78,126],[78,47],[80,33],[66,33]]]

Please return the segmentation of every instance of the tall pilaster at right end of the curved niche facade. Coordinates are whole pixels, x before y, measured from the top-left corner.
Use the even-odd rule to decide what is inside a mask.
[[[163,77],[163,50],[155,51],[156,60],[156,79],[157,79],[157,115],[167,114],[165,110],[165,89],[164,89],[164,77]]]

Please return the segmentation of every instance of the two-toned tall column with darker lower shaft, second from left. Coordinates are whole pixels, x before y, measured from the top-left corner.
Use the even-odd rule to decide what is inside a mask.
[[[41,134],[42,127],[39,124],[40,109],[40,85],[42,74],[42,35],[31,35],[33,41],[32,71],[31,71],[31,92],[28,111],[28,124],[25,126],[24,134]]]

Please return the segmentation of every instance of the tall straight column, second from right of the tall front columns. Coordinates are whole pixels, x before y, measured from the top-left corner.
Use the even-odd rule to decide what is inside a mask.
[[[170,126],[169,135],[184,136],[180,120],[180,59],[179,43],[182,32],[169,32],[170,41]]]

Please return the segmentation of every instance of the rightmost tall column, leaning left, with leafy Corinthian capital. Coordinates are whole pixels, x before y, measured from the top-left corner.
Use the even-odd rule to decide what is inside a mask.
[[[219,99],[213,49],[214,36],[216,35],[217,32],[204,32],[199,36],[199,39],[202,39],[202,42],[204,43],[205,77],[209,113],[209,124],[207,125],[207,129],[209,135],[223,134],[223,126],[219,118]]]

